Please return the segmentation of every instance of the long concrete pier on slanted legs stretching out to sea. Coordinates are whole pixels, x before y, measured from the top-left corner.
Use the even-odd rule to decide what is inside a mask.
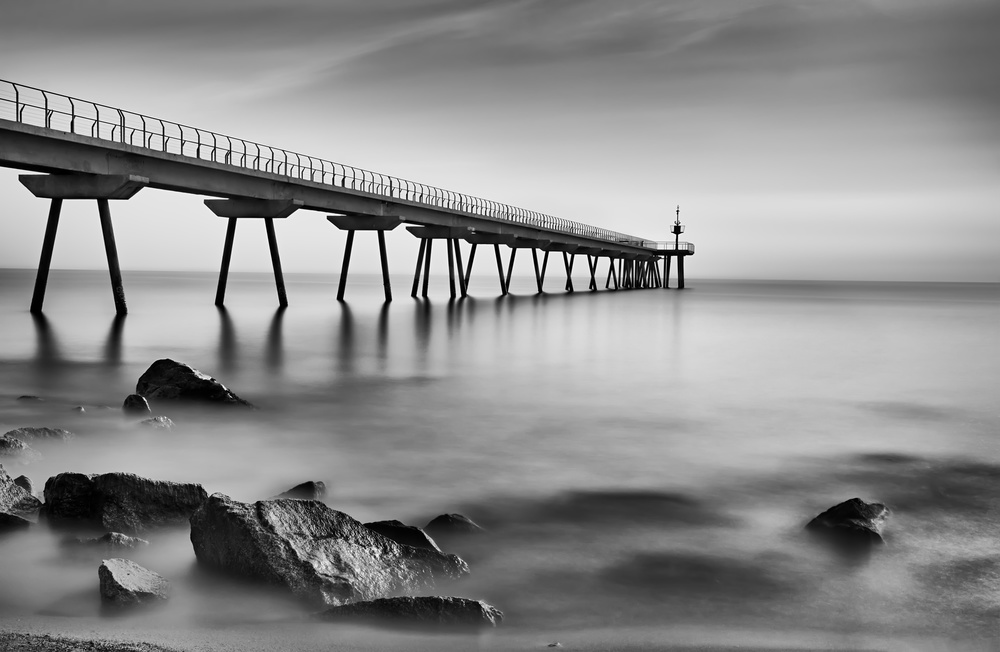
[[[301,211],[326,213],[332,225],[347,231],[338,300],[345,296],[357,231],[378,236],[385,298],[392,299],[385,232],[400,224],[420,239],[414,297],[428,295],[435,240],[447,247],[453,298],[467,295],[480,245],[493,247],[502,294],[508,292],[519,249],[531,250],[539,292],[553,253],[562,259],[568,292],[575,290],[578,255],[586,257],[588,288],[596,291],[602,258],[608,261],[607,289],[668,287],[675,257],[683,288],[683,261],[694,254],[688,242],[647,240],[3,80],[0,166],[35,173],[21,175],[22,184],[50,200],[32,312],[42,310],[62,202],[81,199],[97,202],[115,308],[127,312],[109,201],[126,200],[146,187],[211,197],[207,209],[228,220],[218,305],[225,300],[241,219],[264,221],[278,301],[288,304],[274,222]],[[471,245],[464,267],[460,241]],[[501,246],[509,250],[506,270]]]

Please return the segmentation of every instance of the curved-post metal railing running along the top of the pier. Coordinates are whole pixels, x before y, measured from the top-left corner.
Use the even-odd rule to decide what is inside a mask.
[[[650,240],[0,79],[0,118],[633,247]],[[693,247],[692,247],[693,251]]]

